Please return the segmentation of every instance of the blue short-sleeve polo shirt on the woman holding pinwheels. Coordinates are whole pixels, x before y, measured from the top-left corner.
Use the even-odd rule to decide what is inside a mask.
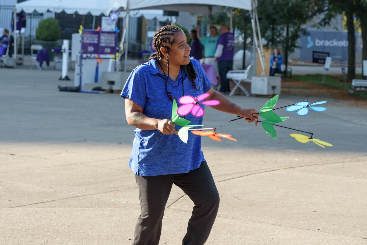
[[[203,67],[196,59],[190,59],[196,69],[197,78],[196,89],[192,82],[182,70],[173,81],[168,78],[167,91],[178,99],[183,95],[198,96],[208,92],[211,82],[204,72]],[[157,61],[151,59],[136,67],[128,77],[121,92],[121,97],[130,100],[143,107],[143,113],[151,118],[170,119],[172,113],[172,101],[168,98],[165,89],[165,77],[160,73]],[[182,87],[183,84],[183,87]],[[204,105],[201,105],[204,109]],[[202,125],[203,117],[186,115],[193,125]],[[175,126],[180,129],[181,126]],[[162,135],[157,140],[161,132],[155,130],[141,130],[135,128],[135,139],[132,143],[132,152],[129,167],[139,176],[167,175],[175,173],[187,173],[190,170],[200,167],[200,163],[205,161],[201,151],[201,136],[189,134],[187,144],[182,142],[178,135]]]

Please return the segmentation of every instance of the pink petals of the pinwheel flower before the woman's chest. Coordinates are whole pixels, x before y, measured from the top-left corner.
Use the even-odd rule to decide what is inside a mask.
[[[178,99],[178,103],[180,103],[181,106],[178,107],[177,114],[179,114],[180,116],[186,116],[191,112],[191,114],[195,117],[204,116],[204,110],[199,105],[199,101],[208,98],[209,95],[210,95],[209,93],[205,93],[195,98],[191,95],[182,96],[181,98]],[[220,103],[221,102],[216,99],[200,102],[201,105],[208,105],[208,106],[217,106]]]

